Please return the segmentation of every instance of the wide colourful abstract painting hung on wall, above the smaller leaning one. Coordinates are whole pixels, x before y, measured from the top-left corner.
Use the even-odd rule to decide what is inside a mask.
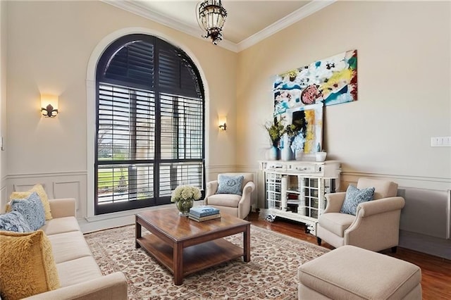
[[[274,115],[322,102],[325,106],[357,100],[357,50],[315,61],[276,75]]]

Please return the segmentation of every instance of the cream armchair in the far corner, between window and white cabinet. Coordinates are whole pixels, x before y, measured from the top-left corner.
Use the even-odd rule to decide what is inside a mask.
[[[216,207],[221,213],[234,215],[241,219],[246,218],[251,211],[251,193],[255,189],[254,175],[252,173],[223,173],[223,175],[243,175],[242,195],[216,194],[218,191],[218,180],[214,180],[206,184],[205,205]]]

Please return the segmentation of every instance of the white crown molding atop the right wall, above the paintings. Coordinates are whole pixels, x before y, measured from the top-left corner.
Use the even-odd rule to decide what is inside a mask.
[[[336,0],[312,0],[308,4],[302,6],[301,8],[293,11],[289,15],[286,15],[284,18],[277,20],[273,24],[264,28],[263,30],[257,32],[256,34],[248,37],[247,39],[243,39],[241,42],[237,44],[238,52],[257,44],[258,42],[266,39],[267,37],[271,37],[271,35],[276,34],[280,30],[302,20],[303,18],[307,18],[309,15],[316,13],[316,11],[320,11],[326,6],[333,4]]]

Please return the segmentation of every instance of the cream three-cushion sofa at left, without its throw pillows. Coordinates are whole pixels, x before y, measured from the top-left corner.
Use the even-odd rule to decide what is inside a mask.
[[[61,287],[27,299],[127,299],[123,273],[102,275],[75,218],[75,199],[49,199],[53,219],[40,229],[49,237]]]

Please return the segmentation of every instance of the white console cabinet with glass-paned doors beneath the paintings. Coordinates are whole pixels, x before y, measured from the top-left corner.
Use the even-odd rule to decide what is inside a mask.
[[[266,207],[261,214],[273,221],[277,216],[306,225],[316,235],[318,217],[326,208],[324,194],[339,190],[338,161],[259,161],[264,172]]]

